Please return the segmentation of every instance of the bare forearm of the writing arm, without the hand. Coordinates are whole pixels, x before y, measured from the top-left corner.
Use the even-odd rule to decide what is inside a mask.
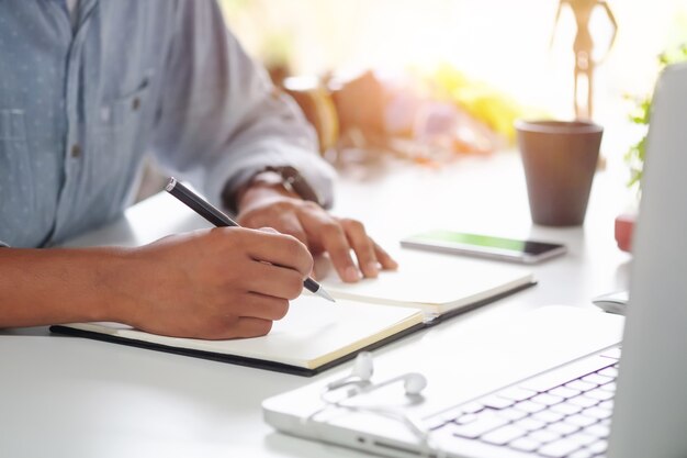
[[[0,327],[121,320],[124,253],[2,248]]]

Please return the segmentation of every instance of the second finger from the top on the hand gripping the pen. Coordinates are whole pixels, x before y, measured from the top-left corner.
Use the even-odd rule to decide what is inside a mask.
[[[303,292],[305,275],[289,267],[255,261],[245,267],[249,292],[279,299],[295,299]]]

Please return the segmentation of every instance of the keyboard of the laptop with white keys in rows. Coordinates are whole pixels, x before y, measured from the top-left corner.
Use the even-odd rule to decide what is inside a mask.
[[[431,434],[547,458],[604,457],[620,348],[554,369],[426,420]]]

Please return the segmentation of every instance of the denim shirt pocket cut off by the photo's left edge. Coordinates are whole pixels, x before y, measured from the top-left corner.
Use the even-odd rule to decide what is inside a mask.
[[[26,243],[34,196],[24,111],[0,109],[0,239],[18,246]]]

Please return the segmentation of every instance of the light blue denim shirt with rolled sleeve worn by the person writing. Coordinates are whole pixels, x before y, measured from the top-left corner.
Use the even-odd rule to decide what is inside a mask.
[[[214,203],[266,166],[331,202],[294,102],[211,0],[0,1],[0,243],[49,246],[116,217],[147,152]]]

